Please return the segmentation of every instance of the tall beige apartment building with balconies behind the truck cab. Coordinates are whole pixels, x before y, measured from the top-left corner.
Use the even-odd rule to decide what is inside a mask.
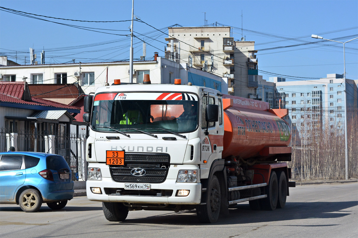
[[[235,41],[231,27],[168,27],[165,40],[166,59],[227,77],[229,94],[260,100],[255,41]]]

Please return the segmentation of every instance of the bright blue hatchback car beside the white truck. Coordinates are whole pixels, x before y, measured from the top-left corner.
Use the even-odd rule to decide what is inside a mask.
[[[0,203],[37,212],[42,203],[62,209],[73,198],[71,169],[62,156],[39,152],[0,153]]]

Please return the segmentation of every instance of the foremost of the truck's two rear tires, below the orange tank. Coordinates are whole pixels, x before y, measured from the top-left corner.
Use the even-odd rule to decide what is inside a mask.
[[[266,198],[262,198],[261,206],[263,210],[273,211],[276,209],[279,197],[279,184],[277,183],[277,175],[275,171],[271,172],[269,184],[265,187]]]

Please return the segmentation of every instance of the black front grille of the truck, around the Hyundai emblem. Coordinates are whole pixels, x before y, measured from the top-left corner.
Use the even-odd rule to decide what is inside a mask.
[[[168,154],[126,153],[124,167],[110,166],[112,179],[116,182],[162,183],[168,174],[170,157]],[[134,168],[145,170],[143,176],[134,176]]]

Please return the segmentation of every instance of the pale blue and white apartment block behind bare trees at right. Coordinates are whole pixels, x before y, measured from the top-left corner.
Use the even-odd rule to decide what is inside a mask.
[[[276,101],[281,98],[284,107],[289,109],[286,119],[293,130],[308,128],[314,135],[330,128],[343,133],[345,107],[348,118],[358,115],[358,80],[346,79],[347,102],[344,101],[344,80],[339,74],[327,74],[319,80],[286,81],[271,77],[269,81],[271,85],[265,87],[265,94],[273,95]],[[267,96],[264,98],[271,104],[270,100]],[[277,108],[277,104],[272,106]]]

